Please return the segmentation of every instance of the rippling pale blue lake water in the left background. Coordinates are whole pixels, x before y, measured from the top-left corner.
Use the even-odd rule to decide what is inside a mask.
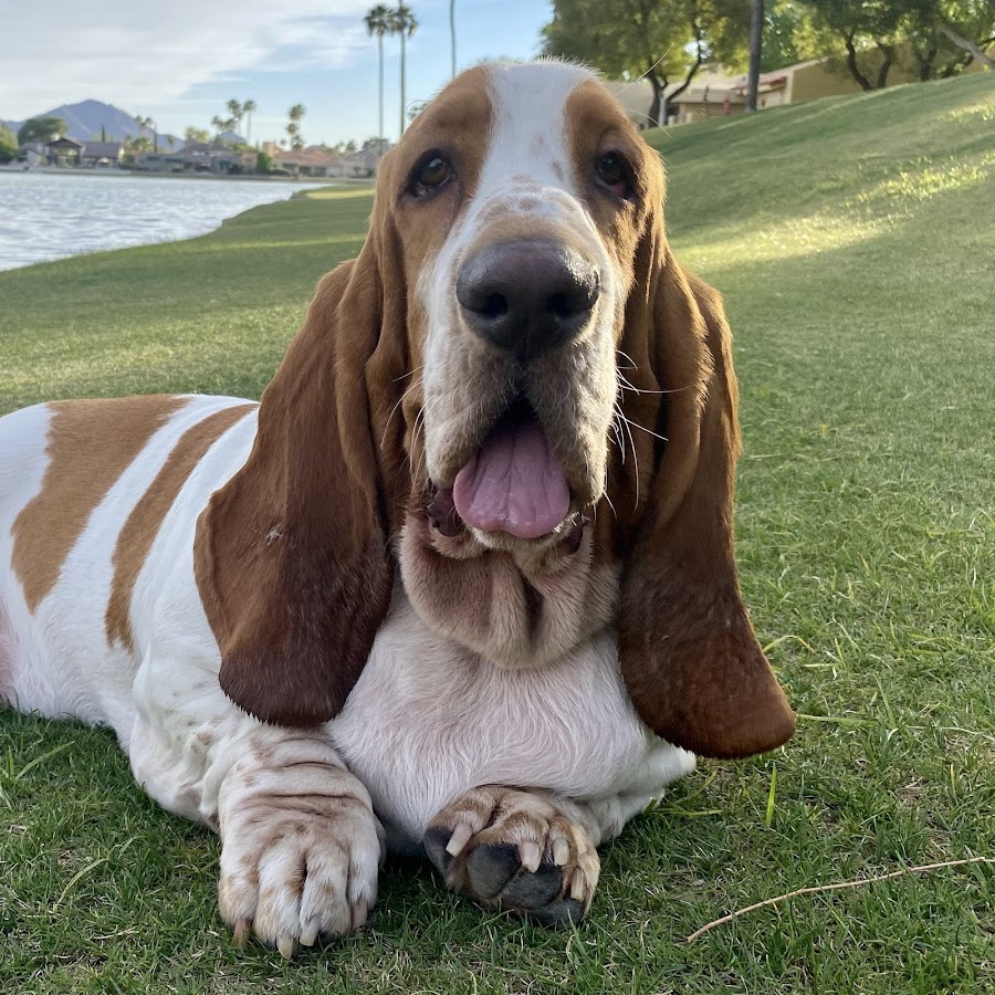
[[[171,242],[313,184],[0,170],[0,270]]]

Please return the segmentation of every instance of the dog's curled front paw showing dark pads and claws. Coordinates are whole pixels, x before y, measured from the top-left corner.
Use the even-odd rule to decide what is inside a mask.
[[[422,844],[450,888],[548,926],[587,914],[600,872],[587,830],[553,800],[516,788],[468,792],[432,819]]]

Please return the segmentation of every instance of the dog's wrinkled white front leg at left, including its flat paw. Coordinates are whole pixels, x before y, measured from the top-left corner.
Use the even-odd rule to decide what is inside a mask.
[[[377,898],[383,829],[323,727],[266,725],[192,668],[143,667],[128,737],[136,779],[221,836],[221,918],[291,956],[362,926]]]

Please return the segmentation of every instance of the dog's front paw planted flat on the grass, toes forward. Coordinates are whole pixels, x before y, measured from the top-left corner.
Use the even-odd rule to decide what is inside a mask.
[[[342,795],[247,798],[222,827],[221,918],[292,957],[297,945],[359,929],[377,899],[383,830],[369,800]]]

